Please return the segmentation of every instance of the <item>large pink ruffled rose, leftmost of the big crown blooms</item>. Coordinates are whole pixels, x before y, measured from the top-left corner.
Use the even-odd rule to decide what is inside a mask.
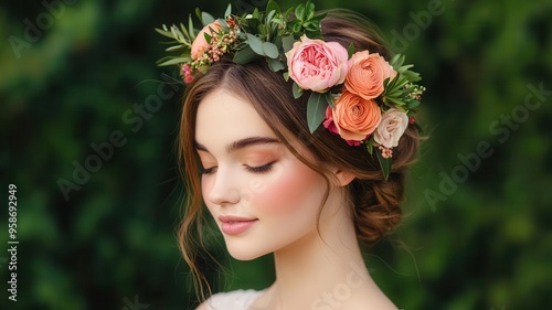
[[[323,93],[343,83],[349,71],[347,50],[337,42],[306,35],[286,53],[289,77],[302,89]]]

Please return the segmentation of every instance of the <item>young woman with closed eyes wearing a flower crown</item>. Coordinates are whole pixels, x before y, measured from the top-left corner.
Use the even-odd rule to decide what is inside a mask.
[[[390,64],[364,19],[301,6],[291,18],[270,1],[257,17],[216,20],[188,41],[172,36],[190,47],[180,63],[189,84],[179,137],[189,190],[183,256],[198,274],[202,225],[214,221],[234,258],[273,253],[276,268],[265,290],[215,293],[198,309],[397,309],[367,271],[359,242],[401,221],[423,87]],[[284,21],[275,28],[272,8]],[[274,43],[277,55],[250,35]],[[236,56],[248,47],[253,57]]]

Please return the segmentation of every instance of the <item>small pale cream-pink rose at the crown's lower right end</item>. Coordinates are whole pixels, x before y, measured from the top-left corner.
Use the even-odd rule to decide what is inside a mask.
[[[408,116],[404,111],[390,108],[383,113],[382,120],[374,132],[374,141],[390,149],[399,146],[399,139],[408,126]]]

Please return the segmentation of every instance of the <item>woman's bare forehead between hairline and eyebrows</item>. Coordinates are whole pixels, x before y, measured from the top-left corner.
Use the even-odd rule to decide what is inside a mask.
[[[201,100],[195,118],[195,141],[209,150],[227,143],[263,136],[276,138],[251,103],[224,89],[216,89]]]

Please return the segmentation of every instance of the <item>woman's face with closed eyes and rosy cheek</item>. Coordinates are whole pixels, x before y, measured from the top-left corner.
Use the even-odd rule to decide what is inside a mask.
[[[203,200],[236,259],[317,237],[326,182],[294,157],[253,106],[223,89],[199,105]]]

